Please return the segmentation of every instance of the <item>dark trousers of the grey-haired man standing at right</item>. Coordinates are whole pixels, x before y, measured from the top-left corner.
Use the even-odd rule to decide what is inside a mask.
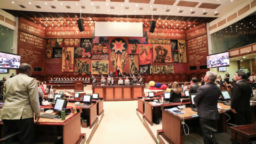
[[[204,144],[212,143],[211,140],[206,138],[206,135],[210,134],[210,130],[204,127],[204,125],[211,126],[214,129],[217,129],[217,120],[199,117],[199,122],[203,133]]]

